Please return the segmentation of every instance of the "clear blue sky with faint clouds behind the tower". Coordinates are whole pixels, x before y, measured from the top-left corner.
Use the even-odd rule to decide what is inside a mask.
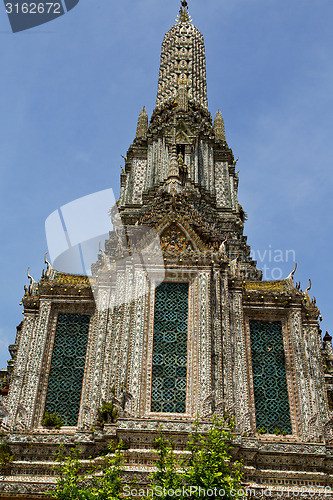
[[[121,154],[143,105],[154,109],[160,46],[178,9],[178,0],[80,0],[57,20],[12,34],[2,6],[1,367],[22,318],[27,267],[41,276],[46,218],[95,191],[119,193]],[[239,201],[258,267],[268,279],[276,267],[287,275],[295,254],[295,278],[303,289],[312,279],[330,331],[333,3],[189,0],[189,10],[205,37],[209,110],[221,109],[239,156]],[[277,250],[283,262],[270,262]]]

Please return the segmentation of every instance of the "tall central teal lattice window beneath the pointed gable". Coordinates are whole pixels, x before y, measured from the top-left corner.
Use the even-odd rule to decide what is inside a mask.
[[[188,283],[161,283],[155,292],[151,411],[185,413]]]

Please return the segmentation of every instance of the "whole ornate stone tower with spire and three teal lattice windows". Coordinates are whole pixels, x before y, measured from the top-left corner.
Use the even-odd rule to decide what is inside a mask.
[[[144,483],[161,424],[180,450],[197,415],[208,428],[228,411],[250,487],[278,498],[303,487],[305,498],[333,497],[322,363],[330,387],[331,339],[323,347],[319,310],[309,288],[294,286],[295,269],[265,282],[250,257],[236,161],[220,111],[214,123],[208,111],[205,64],[184,0],[163,40],[156,107],[149,125],[140,113],[92,277],[47,263],[26,289],[2,400],[17,460],[0,491],[33,498],[52,483],[60,442],[88,456],[116,436],[129,446],[128,474]],[[117,406],[118,420],[101,429],[103,402]],[[43,427],[45,411],[61,416],[60,431]]]

